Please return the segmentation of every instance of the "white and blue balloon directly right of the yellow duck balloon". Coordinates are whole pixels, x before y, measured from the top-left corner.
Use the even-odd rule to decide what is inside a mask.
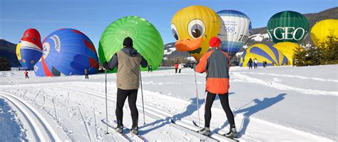
[[[218,37],[222,40],[222,51],[235,56],[247,42],[251,33],[251,21],[240,11],[223,10],[217,12],[222,20]]]

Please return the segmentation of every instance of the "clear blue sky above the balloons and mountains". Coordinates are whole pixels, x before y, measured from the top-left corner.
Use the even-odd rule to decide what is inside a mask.
[[[252,27],[266,26],[270,17],[285,10],[317,13],[338,6],[337,0],[0,0],[0,37],[17,43],[26,29],[38,29],[41,39],[61,28],[82,31],[98,47],[104,29],[123,16],[140,16],[152,23],[165,44],[175,41],[170,21],[176,11],[192,5],[214,11],[235,9],[247,14]]]

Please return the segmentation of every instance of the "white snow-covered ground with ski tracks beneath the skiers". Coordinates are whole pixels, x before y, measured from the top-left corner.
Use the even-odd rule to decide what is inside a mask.
[[[230,69],[230,106],[240,141],[338,141],[338,65]],[[0,141],[126,141],[109,128],[106,135],[105,75],[36,77],[0,72]],[[192,121],[203,117],[205,74],[191,69],[143,72],[145,124],[138,93],[140,134],[148,141],[199,141]],[[108,74],[108,121],[115,117],[116,74]],[[170,123],[173,119],[177,124]],[[131,126],[128,102],[124,122]],[[201,124],[203,125],[203,121]],[[112,123],[113,126],[114,123]],[[183,127],[184,126],[184,127]],[[186,127],[186,128],[185,128]],[[212,107],[213,133],[229,124],[219,100]],[[4,133],[4,134],[3,134]],[[9,135],[9,133],[11,135]],[[132,141],[142,141],[130,136]],[[218,141],[229,141],[212,135]],[[203,136],[207,141],[215,139]]]

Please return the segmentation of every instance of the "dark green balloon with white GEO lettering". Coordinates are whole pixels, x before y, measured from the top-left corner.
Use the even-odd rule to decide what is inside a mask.
[[[307,18],[295,11],[279,12],[267,22],[267,33],[275,44],[285,41],[299,44],[308,31]]]

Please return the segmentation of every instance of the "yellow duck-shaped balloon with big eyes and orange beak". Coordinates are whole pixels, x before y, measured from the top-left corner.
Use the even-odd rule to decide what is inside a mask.
[[[220,18],[207,6],[188,6],[176,12],[171,20],[171,31],[178,51],[188,51],[199,61],[209,49],[209,40],[217,36]]]

